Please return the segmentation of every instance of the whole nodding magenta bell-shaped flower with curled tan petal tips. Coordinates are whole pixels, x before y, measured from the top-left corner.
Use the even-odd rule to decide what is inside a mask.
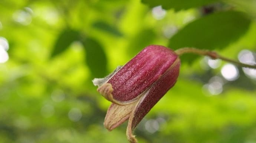
[[[112,104],[104,126],[115,129],[128,120],[127,138],[136,143],[132,131],[177,81],[180,59],[171,49],[150,45],[124,66],[102,79],[93,79],[97,91]]]

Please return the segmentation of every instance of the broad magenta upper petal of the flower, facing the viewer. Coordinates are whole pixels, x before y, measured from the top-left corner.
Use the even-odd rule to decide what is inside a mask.
[[[146,47],[108,80],[113,88],[111,98],[118,104],[137,100],[177,58],[173,50],[164,46]]]

